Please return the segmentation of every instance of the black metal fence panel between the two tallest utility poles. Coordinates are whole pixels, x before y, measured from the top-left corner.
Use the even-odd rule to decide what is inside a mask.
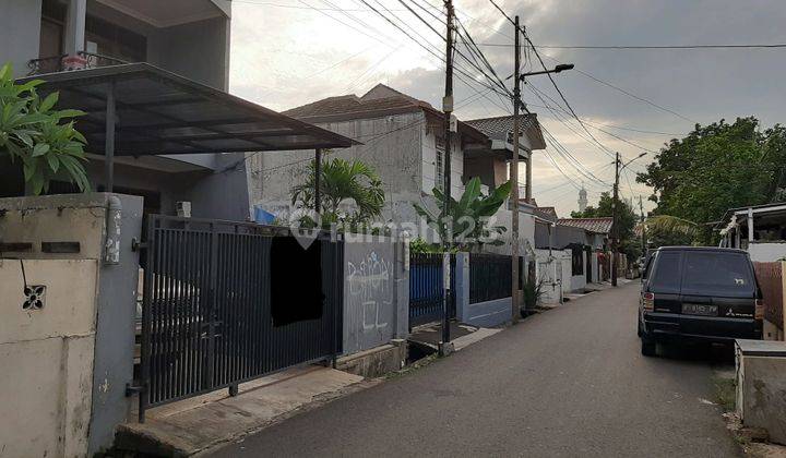
[[[511,256],[502,254],[469,254],[471,304],[511,297]]]

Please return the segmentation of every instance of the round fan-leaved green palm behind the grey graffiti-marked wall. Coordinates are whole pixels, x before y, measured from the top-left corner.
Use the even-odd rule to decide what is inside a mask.
[[[293,205],[313,208],[314,182],[312,161],[306,181],[291,189]],[[382,215],[384,206],[382,180],[373,168],[359,160],[335,158],[322,164],[320,196],[320,216],[325,228],[331,224],[344,229],[366,227]],[[342,204],[347,203],[354,205],[342,208]]]

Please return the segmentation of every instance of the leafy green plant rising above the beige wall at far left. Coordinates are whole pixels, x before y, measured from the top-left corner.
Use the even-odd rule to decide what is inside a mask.
[[[87,191],[90,182],[82,162],[87,143],[74,129],[83,116],[79,110],[57,110],[58,93],[41,99],[36,87],[43,81],[16,84],[10,64],[0,68],[0,155],[21,160],[25,182],[34,194],[49,190],[49,182],[63,178]]]

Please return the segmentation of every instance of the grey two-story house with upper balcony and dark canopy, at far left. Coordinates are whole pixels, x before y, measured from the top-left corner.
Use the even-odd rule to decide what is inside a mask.
[[[76,128],[93,190],[142,195],[145,213],[188,202],[194,217],[246,220],[246,152],[352,142],[228,95],[230,21],[228,0],[2,0],[0,63],[47,81],[61,108],[87,111]],[[19,162],[0,154],[0,196],[25,191]],[[74,191],[66,180],[49,190]]]

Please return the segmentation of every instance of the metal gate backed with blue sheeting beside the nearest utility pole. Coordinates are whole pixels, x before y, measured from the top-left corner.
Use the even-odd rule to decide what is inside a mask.
[[[409,255],[409,327],[442,318],[442,254]],[[451,255],[451,291],[455,291],[455,255]],[[455,317],[455,294],[449,302],[449,317]]]

